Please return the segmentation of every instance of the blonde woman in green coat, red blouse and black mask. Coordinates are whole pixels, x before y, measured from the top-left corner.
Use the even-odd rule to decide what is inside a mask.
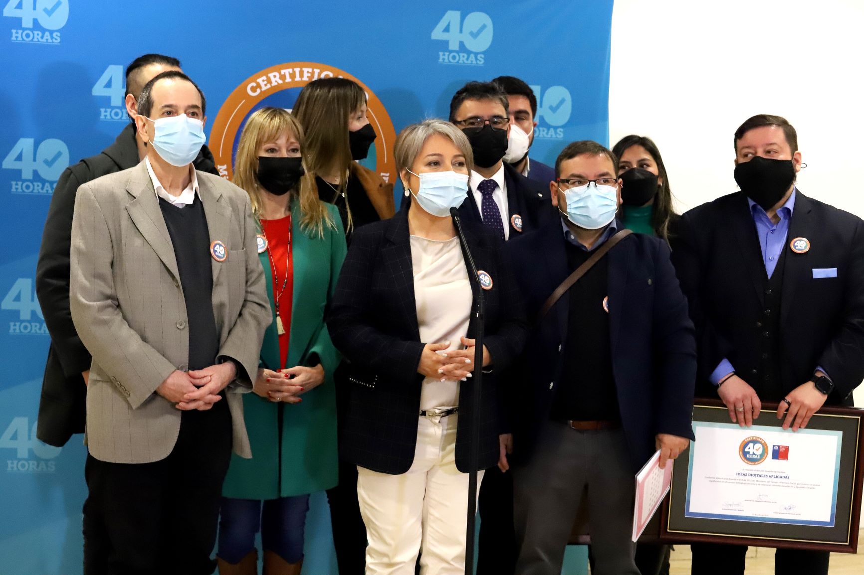
[[[263,108],[247,120],[233,182],[259,225],[258,255],[273,323],[264,334],[253,392],[244,397],[252,458],[232,458],[222,490],[217,559],[223,575],[298,574],[309,494],[338,481],[333,372],[339,355],[324,325],[345,232],[334,205],[304,174],[302,128],[288,111]]]

